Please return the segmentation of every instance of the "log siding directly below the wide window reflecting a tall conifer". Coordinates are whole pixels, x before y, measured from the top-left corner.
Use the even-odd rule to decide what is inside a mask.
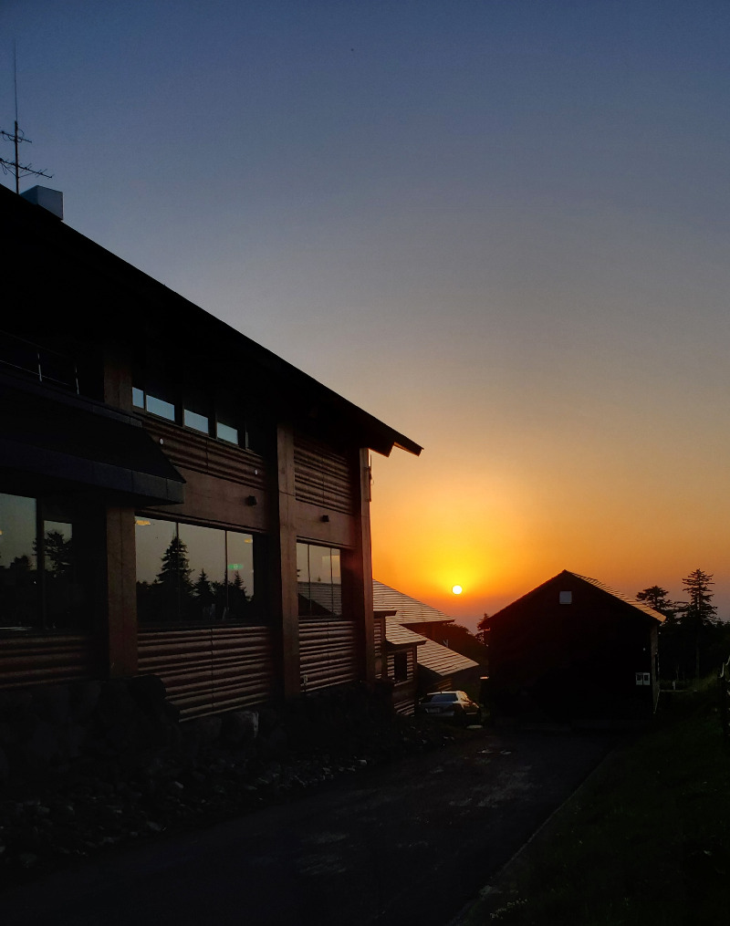
[[[139,671],[165,682],[182,719],[260,704],[274,694],[271,629],[142,630]]]

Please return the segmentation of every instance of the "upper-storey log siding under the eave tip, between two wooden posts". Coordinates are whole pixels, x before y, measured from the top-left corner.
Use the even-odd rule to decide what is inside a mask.
[[[296,434],[294,475],[298,501],[352,514],[355,504],[352,477],[344,454]]]

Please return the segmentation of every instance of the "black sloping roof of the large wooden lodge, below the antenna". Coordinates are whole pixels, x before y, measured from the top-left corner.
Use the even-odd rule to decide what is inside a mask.
[[[283,408],[287,415],[296,411],[297,418],[309,423],[314,420],[332,422],[330,427],[334,432],[351,434],[352,440],[359,446],[370,447],[385,457],[394,447],[415,456],[421,453],[420,444],[411,441],[405,434],[396,432],[308,373],[174,293],[143,270],[132,267],[101,244],[70,228],[42,206],[27,202],[22,196],[0,186],[0,207],[4,210],[7,226],[13,228],[4,248],[6,264],[15,270],[9,282],[17,287],[24,301],[29,301],[29,292],[33,294],[32,298],[37,298],[35,291],[29,290],[29,281],[37,278],[38,261],[41,260],[45,277],[51,280],[58,278],[60,282],[56,285],[61,289],[69,275],[78,280],[74,318],[77,323],[88,319],[90,328],[94,329],[101,324],[97,289],[99,281],[103,281],[109,292],[115,293],[118,299],[126,300],[127,314],[124,325],[120,326],[122,331],[135,332],[141,339],[141,329],[147,324],[152,326],[151,331],[157,332],[157,328],[164,330],[164,339],[170,350],[178,350],[182,344],[194,349],[201,357],[215,357],[216,369],[221,376],[224,373],[229,375],[226,370],[232,370],[230,375],[239,377],[239,370],[243,367],[247,372],[247,386],[251,383],[256,385],[257,399],[266,399],[273,407]],[[81,289],[82,285],[86,290]],[[87,292],[89,289],[93,291],[94,298]],[[6,293],[8,304],[13,303],[14,296],[12,290]],[[166,323],[169,319],[175,319],[175,324]],[[163,335],[159,334],[159,337],[161,339]]]

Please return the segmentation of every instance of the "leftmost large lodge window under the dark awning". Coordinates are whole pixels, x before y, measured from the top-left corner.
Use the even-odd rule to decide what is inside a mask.
[[[0,493],[0,628],[84,629],[97,545],[68,502]]]

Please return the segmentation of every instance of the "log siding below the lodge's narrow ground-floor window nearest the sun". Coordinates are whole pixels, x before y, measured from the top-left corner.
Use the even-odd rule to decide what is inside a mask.
[[[355,682],[358,673],[354,620],[299,619],[299,667],[302,690]]]

